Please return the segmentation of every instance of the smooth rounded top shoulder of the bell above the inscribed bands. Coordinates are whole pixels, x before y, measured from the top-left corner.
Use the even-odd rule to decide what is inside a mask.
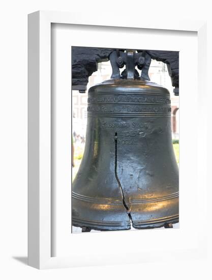
[[[107,86],[109,88],[107,88]],[[110,87],[113,89],[111,90]],[[160,94],[160,95],[170,96],[169,90],[161,85],[158,85],[158,83],[156,82],[152,82],[144,79],[120,79],[120,78],[108,79],[101,83],[97,83],[96,85],[89,88],[88,94],[93,94],[93,93],[101,94],[107,92],[129,94],[129,91],[126,92],[126,88],[128,88],[129,91],[130,89],[132,90],[132,92],[130,92],[131,94],[133,94],[133,92],[136,91],[141,94],[142,93]]]

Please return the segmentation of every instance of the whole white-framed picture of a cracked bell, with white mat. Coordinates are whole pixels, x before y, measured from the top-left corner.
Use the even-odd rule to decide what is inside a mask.
[[[204,21],[28,15],[29,265],[206,258],[205,42]]]

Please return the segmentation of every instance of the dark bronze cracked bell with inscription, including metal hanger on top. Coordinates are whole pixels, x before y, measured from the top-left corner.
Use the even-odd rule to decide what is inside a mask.
[[[145,51],[113,52],[110,61],[112,79],[88,91],[72,225],[87,231],[166,227],[179,220],[169,91],[148,81]]]

